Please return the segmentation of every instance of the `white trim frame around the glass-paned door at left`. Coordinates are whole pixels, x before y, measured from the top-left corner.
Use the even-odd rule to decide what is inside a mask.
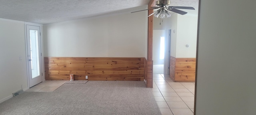
[[[41,71],[42,71],[42,81],[45,81],[45,75],[44,75],[44,45],[43,45],[43,25],[42,24],[36,24],[36,23],[30,23],[30,22],[25,22],[24,23],[24,28],[25,28],[25,46],[26,46],[26,68],[27,68],[27,83],[28,83],[28,89],[30,88],[30,83],[29,83],[29,67],[28,67],[28,54],[30,54],[30,52],[28,52],[28,48],[27,48],[27,30],[26,30],[26,26],[30,25],[30,26],[39,26],[40,27],[40,46],[41,46]]]

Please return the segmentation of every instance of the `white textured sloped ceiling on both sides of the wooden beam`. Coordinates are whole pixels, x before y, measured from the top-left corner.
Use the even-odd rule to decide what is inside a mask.
[[[48,24],[138,10],[150,0],[0,0],[0,18]],[[198,0],[170,0],[170,6],[192,6]],[[136,9],[137,8],[137,9]],[[143,10],[143,9],[140,9]],[[188,11],[188,10],[184,10]]]

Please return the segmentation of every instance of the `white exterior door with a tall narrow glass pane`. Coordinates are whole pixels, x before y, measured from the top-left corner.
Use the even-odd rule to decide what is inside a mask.
[[[26,25],[29,87],[42,82],[40,27]]]

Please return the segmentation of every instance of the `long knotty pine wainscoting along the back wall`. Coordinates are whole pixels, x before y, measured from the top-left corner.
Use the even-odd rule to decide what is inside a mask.
[[[44,57],[46,80],[144,81],[144,57]]]

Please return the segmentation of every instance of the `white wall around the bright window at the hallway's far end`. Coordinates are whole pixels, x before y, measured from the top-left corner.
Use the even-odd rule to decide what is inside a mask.
[[[160,59],[160,40],[165,37],[165,30],[153,30],[153,63],[164,64],[164,59]]]

